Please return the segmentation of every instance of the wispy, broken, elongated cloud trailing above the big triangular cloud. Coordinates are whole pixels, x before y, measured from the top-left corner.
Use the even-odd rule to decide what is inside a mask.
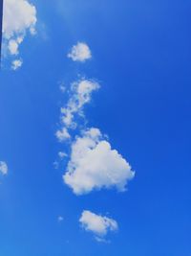
[[[61,126],[62,128],[56,131],[56,137],[59,141],[69,139],[69,128],[76,128],[77,124],[74,121],[77,115],[83,115],[83,106],[90,103],[93,91],[99,88],[96,81],[80,80],[75,81],[71,85],[71,95],[65,107],[61,107]]]

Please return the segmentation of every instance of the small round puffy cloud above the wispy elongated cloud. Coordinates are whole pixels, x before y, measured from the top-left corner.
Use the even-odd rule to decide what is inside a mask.
[[[74,61],[84,62],[92,58],[91,50],[86,43],[78,42],[73,46],[71,52],[68,54],[68,58],[72,58]]]

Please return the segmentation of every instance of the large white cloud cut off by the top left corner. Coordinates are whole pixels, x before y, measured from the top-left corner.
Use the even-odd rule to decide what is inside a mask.
[[[4,0],[3,42],[7,54],[19,54],[19,45],[27,32],[35,34],[36,21],[36,9],[28,0]]]

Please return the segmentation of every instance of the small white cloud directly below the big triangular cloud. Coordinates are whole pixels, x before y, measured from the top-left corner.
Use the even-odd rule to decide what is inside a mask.
[[[84,230],[92,232],[97,242],[106,242],[104,237],[108,232],[118,229],[117,221],[105,216],[96,215],[91,211],[83,211],[79,219]]]

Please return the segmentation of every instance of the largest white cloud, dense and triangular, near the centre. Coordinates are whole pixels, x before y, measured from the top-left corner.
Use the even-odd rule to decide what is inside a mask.
[[[72,144],[64,182],[74,194],[88,194],[102,188],[126,190],[126,185],[135,175],[129,163],[103,137],[98,128],[83,131]]]

